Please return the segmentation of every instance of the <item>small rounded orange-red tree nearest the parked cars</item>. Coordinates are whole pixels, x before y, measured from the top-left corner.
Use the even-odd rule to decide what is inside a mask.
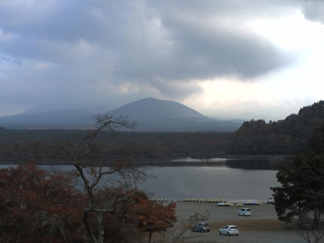
[[[153,232],[164,232],[173,227],[177,221],[175,208],[176,203],[164,206],[143,195],[126,217],[132,220],[141,232],[149,233],[148,243],[150,243]]]

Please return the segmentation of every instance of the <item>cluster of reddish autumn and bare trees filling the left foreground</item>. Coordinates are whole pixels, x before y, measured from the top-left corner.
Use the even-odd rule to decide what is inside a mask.
[[[137,182],[153,178],[144,167],[119,158],[104,168],[93,143],[113,132],[110,125],[131,125],[105,115],[97,124],[85,139],[55,145],[71,159],[70,172],[35,163],[0,170],[1,242],[150,243],[159,233],[155,242],[176,243],[194,222],[206,220],[204,214],[178,219],[176,203],[161,204],[139,191]]]

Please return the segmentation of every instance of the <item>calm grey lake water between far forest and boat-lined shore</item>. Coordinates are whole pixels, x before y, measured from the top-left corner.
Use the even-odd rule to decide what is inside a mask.
[[[8,168],[10,165],[0,165]],[[44,169],[53,166],[41,166]],[[73,166],[55,166],[70,171]],[[138,187],[155,198],[181,200],[185,198],[225,198],[228,201],[255,199],[265,201],[271,195],[270,187],[278,186],[275,170],[235,169],[219,166],[146,167],[156,179],[147,180]]]

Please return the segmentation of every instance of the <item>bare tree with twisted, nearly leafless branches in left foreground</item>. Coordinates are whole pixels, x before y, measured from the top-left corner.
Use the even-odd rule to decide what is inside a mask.
[[[67,158],[72,158],[76,174],[82,179],[88,196],[88,205],[83,212],[83,221],[90,242],[104,242],[104,214],[116,212],[116,205],[121,201],[130,201],[132,189],[137,181],[143,181],[151,176],[135,163],[128,163],[124,159],[116,159],[108,167],[103,167],[99,154],[95,152],[94,141],[102,133],[115,135],[117,128],[134,129],[135,123],[128,117],[114,118],[111,115],[98,115],[97,127],[83,141],[65,142],[56,146],[59,151],[65,151]],[[90,164],[89,168],[86,168]],[[109,193],[107,188],[118,188]],[[117,193],[116,193],[117,191]],[[97,228],[90,224],[91,215],[97,219]]]

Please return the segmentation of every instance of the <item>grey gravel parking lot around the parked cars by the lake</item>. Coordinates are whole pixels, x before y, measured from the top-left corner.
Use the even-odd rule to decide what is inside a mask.
[[[206,233],[187,232],[188,239],[183,242],[264,242],[264,243],[305,243],[306,241],[296,234],[292,225],[280,222],[277,219],[274,206],[245,206],[251,209],[251,216],[239,216],[240,208],[217,207],[208,203],[177,203],[178,217],[187,218],[190,215],[209,211],[211,231]],[[226,224],[238,227],[238,236],[219,235],[218,230]],[[322,239],[320,242],[324,242]]]

